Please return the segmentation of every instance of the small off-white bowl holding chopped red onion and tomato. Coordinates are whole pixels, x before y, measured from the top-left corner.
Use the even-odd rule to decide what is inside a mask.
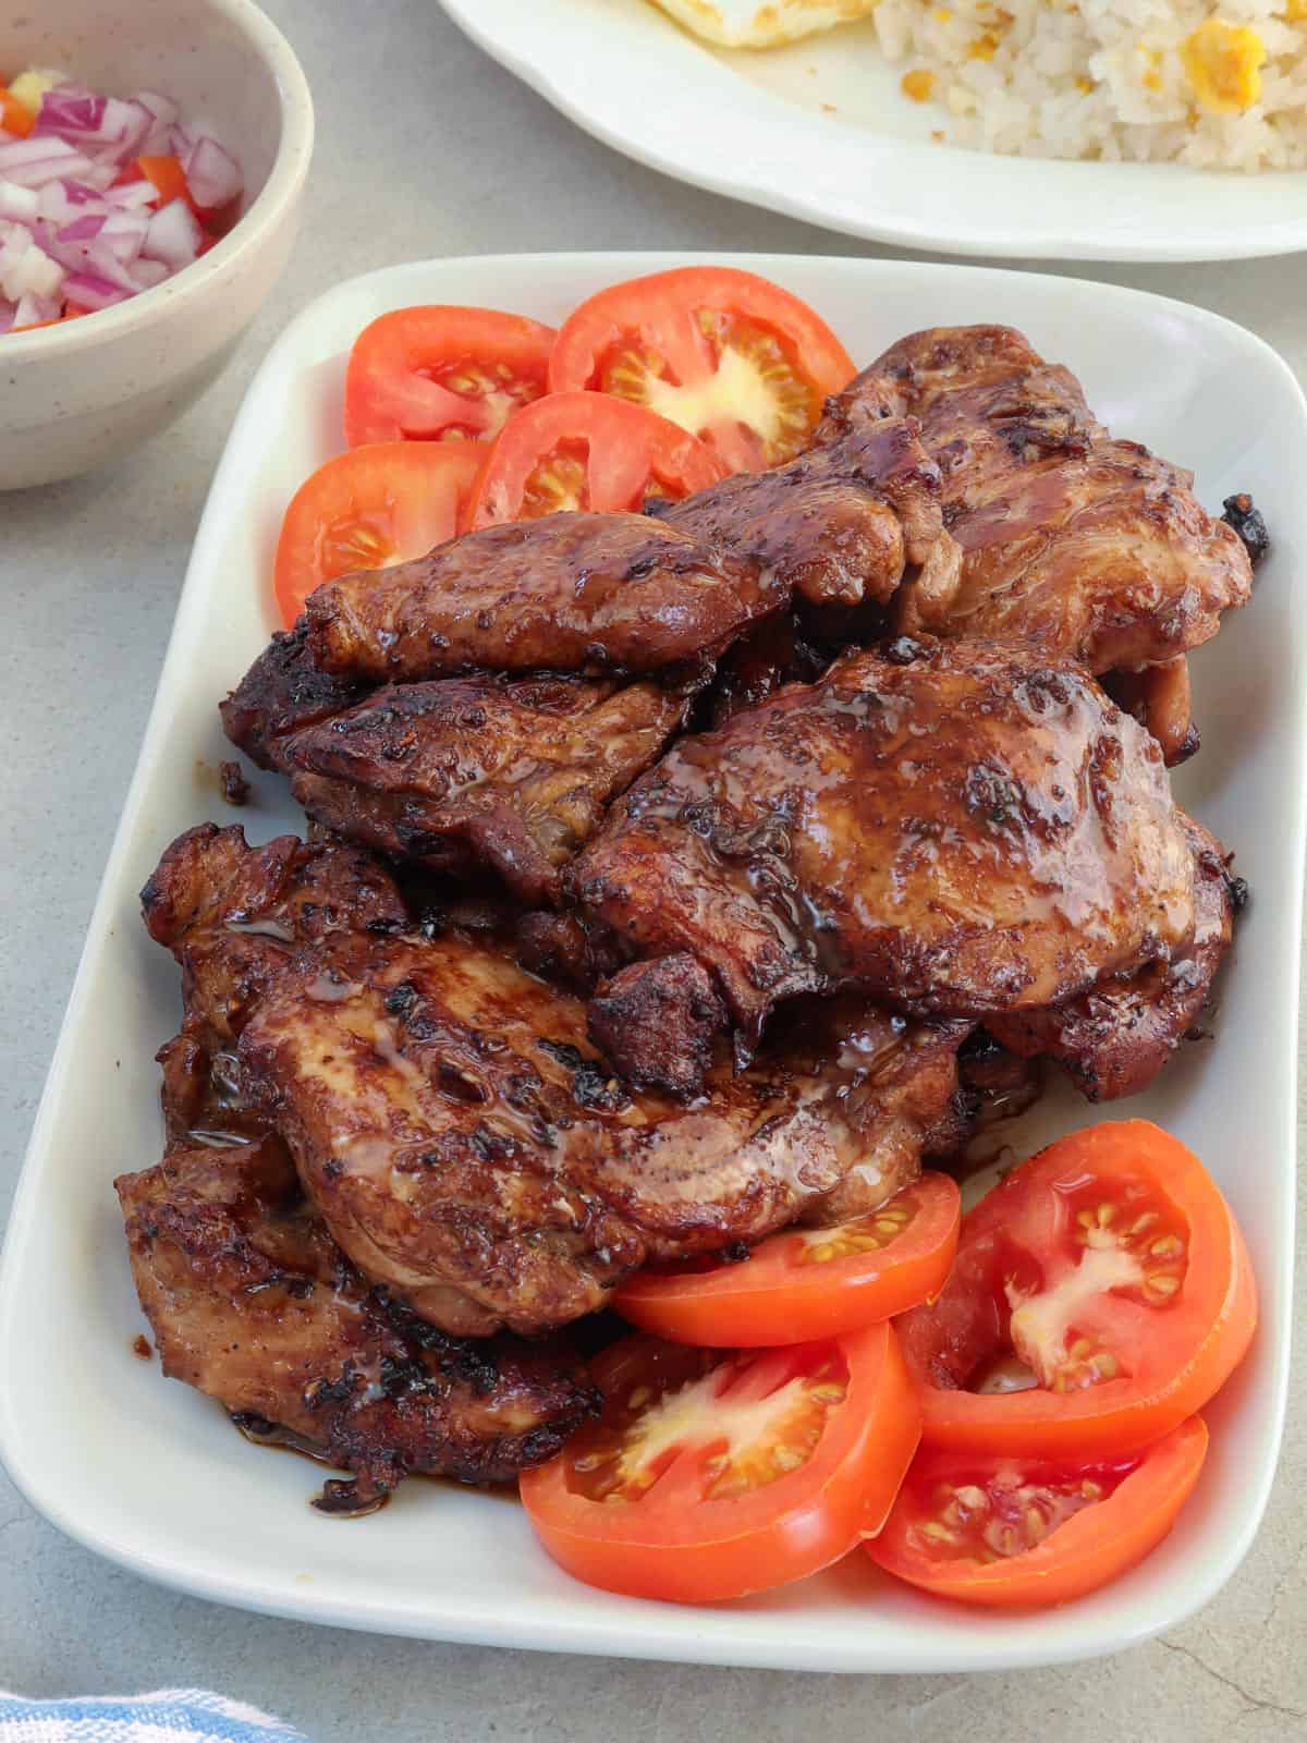
[[[0,16],[0,70],[162,91],[240,160],[242,214],[192,267],[98,314],[0,335],[0,490],[49,485],[159,434],[227,364],[295,241],[314,105],[251,0],[35,0]],[[17,12],[17,16],[14,16]]]

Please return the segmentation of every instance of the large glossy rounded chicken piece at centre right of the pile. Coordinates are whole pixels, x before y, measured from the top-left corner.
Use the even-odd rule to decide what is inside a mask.
[[[688,955],[742,1051],[795,994],[1040,1009],[1183,953],[1194,868],[1157,744],[1079,666],[899,640],[681,739],[565,882],[643,971]],[[606,1032],[633,1082],[676,1018]],[[680,1020],[701,1020],[687,1009]]]

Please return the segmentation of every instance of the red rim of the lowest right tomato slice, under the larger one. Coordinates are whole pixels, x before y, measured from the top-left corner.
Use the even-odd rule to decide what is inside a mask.
[[[950,1455],[924,1452],[908,1475],[885,1529],[866,1543],[877,1567],[924,1591],[995,1609],[1047,1607],[1096,1591],[1136,1567],[1171,1530],[1208,1454],[1202,1417],[1188,1417],[1145,1448],[1138,1466],[1105,1501],[1086,1508],[1023,1551],[997,1562],[936,1556],[913,1543],[913,1499],[948,1471]]]

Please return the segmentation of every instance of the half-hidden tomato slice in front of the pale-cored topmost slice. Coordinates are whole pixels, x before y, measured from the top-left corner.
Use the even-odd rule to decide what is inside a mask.
[[[721,478],[711,448],[655,411],[606,394],[547,394],[514,411],[486,457],[469,526],[559,509],[641,511]]]

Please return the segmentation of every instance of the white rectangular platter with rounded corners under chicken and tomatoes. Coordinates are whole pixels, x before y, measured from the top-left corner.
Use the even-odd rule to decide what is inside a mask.
[[[1213,1405],[1213,1445],[1173,1537],[1134,1574],[1067,1609],[986,1616],[934,1604],[864,1556],[772,1597],[709,1609],[615,1598],[537,1550],[512,1504],[408,1483],[380,1515],[324,1520],[315,1473],[246,1445],[223,1412],[131,1351],[141,1328],[112,1180],[159,1159],[153,1053],[176,1028],[178,974],[136,892],[204,817],[253,840],[301,821],[260,777],[223,807],[214,704],[275,627],[268,575],[289,495],[340,446],[345,356],[375,315],[490,303],[559,321],[591,291],[680,256],[545,254],[394,267],[342,284],[281,336],[213,485],[0,1272],[0,1457],[30,1501],[101,1555],[207,1598],[441,1640],[721,1665],[964,1672],[1110,1652],[1169,1628],[1230,1576],[1279,1448],[1290,1342],[1304,847],[1307,408],[1286,366],[1209,314],[1136,291],[981,268],[755,256],[835,326],[857,361],[915,328],[1000,321],[1070,364],[1121,436],[1194,467],[1204,500],[1251,490],[1274,553],[1253,603],[1194,661],[1202,755],[1178,791],[1234,849],[1253,889],[1215,1041],[1185,1049],[1124,1109],[1070,1093],[1011,1136],[1129,1112],[1187,1140],[1230,1196],[1262,1286],[1253,1353]]]

